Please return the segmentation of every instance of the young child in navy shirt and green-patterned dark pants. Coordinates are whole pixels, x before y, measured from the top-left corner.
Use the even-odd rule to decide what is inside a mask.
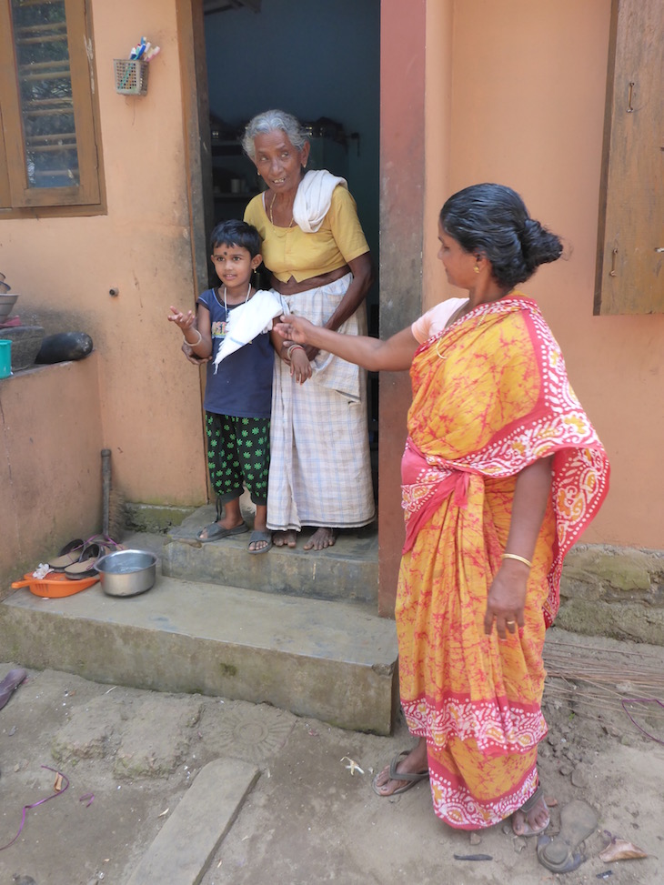
[[[206,289],[198,298],[196,316],[191,310],[183,314],[171,307],[168,317],[182,329],[196,357],[212,357],[207,361],[203,405],[207,467],[216,492],[216,522],[202,528],[197,538],[215,541],[248,530],[240,512],[240,496],[246,486],[256,505],[249,553],[267,553],[272,546],[266,518],[275,357],[270,334],[267,330],[258,332],[220,361],[216,358],[233,311],[256,295],[251,276],[263,260],[261,239],[257,229],[244,221],[224,221],[213,230],[210,245],[221,285]],[[267,328],[271,325],[270,320]]]

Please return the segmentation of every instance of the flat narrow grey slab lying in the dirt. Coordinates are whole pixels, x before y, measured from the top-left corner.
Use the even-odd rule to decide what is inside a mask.
[[[239,759],[208,762],[157,833],[127,885],[196,885],[259,773],[256,766]]]

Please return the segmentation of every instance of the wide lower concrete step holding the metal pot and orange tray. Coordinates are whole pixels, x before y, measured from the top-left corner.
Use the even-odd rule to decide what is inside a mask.
[[[125,539],[144,549],[162,542]],[[241,548],[246,568],[288,556]],[[0,603],[0,647],[25,667],[266,701],[344,729],[388,734],[396,709],[393,621],[357,603],[183,581],[158,567],[154,588],[135,597],[106,596],[99,584],[59,599],[15,590]]]

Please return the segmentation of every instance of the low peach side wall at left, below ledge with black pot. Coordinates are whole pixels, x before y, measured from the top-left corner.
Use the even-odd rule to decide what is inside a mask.
[[[101,528],[99,355],[0,380],[0,598]]]

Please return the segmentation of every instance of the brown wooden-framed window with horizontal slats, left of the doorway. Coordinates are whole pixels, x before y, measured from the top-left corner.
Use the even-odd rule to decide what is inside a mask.
[[[86,0],[0,0],[0,206],[99,203],[88,47]]]

